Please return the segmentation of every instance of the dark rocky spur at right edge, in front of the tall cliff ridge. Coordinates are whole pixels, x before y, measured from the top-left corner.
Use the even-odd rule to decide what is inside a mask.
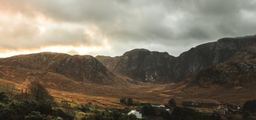
[[[243,88],[256,82],[256,44],[235,53],[228,61],[205,68],[192,78],[191,85]]]

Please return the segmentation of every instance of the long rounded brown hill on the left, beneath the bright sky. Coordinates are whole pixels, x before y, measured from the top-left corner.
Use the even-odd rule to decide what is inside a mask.
[[[71,56],[63,53],[42,52],[3,58],[0,59],[0,65],[9,70],[28,70],[32,75],[56,73],[74,81],[107,84],[114,79],[114,74],[90,55]]]

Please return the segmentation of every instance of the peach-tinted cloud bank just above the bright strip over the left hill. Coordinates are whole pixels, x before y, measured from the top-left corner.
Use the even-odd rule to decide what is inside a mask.
[[[0,21],[1,22],[1,21]],[[0,23],[0,47],[9,50],[40,49],[54,45],[101,46],[102,40],[92,38],[82,28],[53,27],[40,33],[39,27],[29,21]]]

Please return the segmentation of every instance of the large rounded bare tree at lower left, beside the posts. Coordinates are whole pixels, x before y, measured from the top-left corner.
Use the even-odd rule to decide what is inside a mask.
[[[38,81],[33,81],[29,85],[29,90],[32,99],[39,103],[52,104],[53,97],[49,94],[44,86],[42,86]]]

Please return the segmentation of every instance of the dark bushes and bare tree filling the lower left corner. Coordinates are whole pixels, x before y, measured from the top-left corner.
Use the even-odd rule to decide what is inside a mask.
[[[73,119],[54,109],[54,99],[39,82],[31,82],[29,93],[20,93],[12,84],[0,84],[0,119]]]

